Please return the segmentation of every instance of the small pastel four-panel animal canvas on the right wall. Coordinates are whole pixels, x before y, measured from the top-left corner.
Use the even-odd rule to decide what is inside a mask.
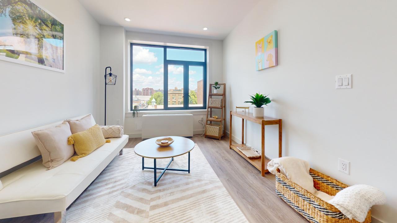
[[[277,30],[255,42],[255,69],[274,67],[277,61]]]

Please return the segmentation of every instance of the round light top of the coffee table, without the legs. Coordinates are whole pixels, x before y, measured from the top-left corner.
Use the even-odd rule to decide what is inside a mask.
[[[174,142],[169,146],[159,146],[156,144],[156,139],[159,138],[173,138]],[[139,142],[134,152],[138,156],[152,159],[164,159],[175,156],[181,156],[193,150],[195,143],[189,138],[180,136],[160,136],[156,138],[149,138]]]

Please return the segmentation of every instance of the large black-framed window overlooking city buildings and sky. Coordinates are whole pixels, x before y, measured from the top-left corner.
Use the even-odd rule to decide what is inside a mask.
[[[206,108],[206,49],[131,43],[131,110]]]

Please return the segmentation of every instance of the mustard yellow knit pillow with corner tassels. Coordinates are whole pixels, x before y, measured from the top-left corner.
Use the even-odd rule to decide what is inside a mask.
[[[87,156],[105,144],[105,142],[110,142],[110,140],[105,140],[102,129],[98,124],[86,131],[72,134],[67,138],[67,144],[74,144],[75,151],[79,156],[73,156],[70,160],[76,161],[81,157]]]

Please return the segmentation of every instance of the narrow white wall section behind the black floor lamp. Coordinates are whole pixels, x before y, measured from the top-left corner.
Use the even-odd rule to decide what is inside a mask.
[[[117,75],[116,85],[106,86],[106,125],[123,125],[125,96],[125,30],[117,26],[100,26],[100,120],[104,124],[105,67],[112,67]],[[110,69],[108,69],[110,72]],[[118,121],[119,120],[119,123]]]

